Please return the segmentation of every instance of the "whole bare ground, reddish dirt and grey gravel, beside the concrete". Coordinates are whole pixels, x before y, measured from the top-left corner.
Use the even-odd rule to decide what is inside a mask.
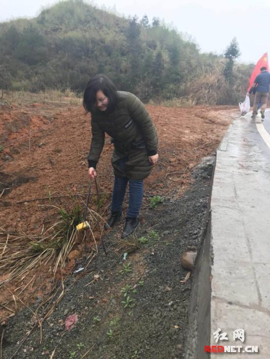
[[[192,280],[180,284],[186,272],[180,267],[179,258],[183,249],[200,245],[209,195],[209,168],[213,161],[208,159],[205,166],[195,172],[195,178],[191,172],[203,157],[215,151],[236,111],[224,107],[147,106],[147,109],[160,138],[160,161],[145,181],[142,226],[137,235],[146,237],[147,244],[128,257],[131,272],[121,274],[125,263],[121,262],[121,250],[115,247],[121,223],[105,238],[110,248],[108,257],[100,251],[91,274],[83,276],[78,285],[74,284],[75,276],[66,283],[63,301],[43,323],[42,344],[39,344],[38,331],[34,332],[15,358],[50,358],[57,343],[54,356],[57,359],[81,358],[87,350],[90,352],[85,358],[104,359],[176,358],[181,353]],[[43,225],[49,228],[55,222],[55,209],[44,205],[65,206],[70,201],[68,197],[54,196],[87,191],[89,117],[79,107],[57,109],[32,104],[24,108],[1,106],[0,118],[3,119],[0,121],[0,145],[3,146],[0,226],[5,230],[37,234]],[[107,141],[98,165],[101,191],[108,194],[113,183],[111,151]],[[162,195],[164,204],[155,211],[149,210],[149,194]],[[34,198],[44,199],[26,202]],[[151,235],[156,238],[151,239]],[[83,259],[77,259],[79,264],[83,265]],[[86,286],[92,281],[93,272],[98,277]],[[44,271],[40,277],[43,286],[29,286],[20,297],[23,302],[38,306],[41,298],[50,292],[51,278],[46,277]],[[11,293],[17,287],[24,287],[27,281],[29,278],[14,282],[7,288],[10,292],[2,290],[1,303],[9,303],[6,307],[13,310]],[[68,290],[70,284],[72,287]],[[127,306],[128,310],[121,303],[126,300],[121,288],[127,284],[135,290],[129,293],[134,302]],[[6,308],[1,311],[4,320],[8,311]],[[77,313],[79,320],[69,332],[63,323],[67,315],[73,313]],[[9,321],[6,333],[12,344],[6,347],[5,355],[15,351],[15,343],[31,328],[32,315],[24,310],[17,314],[16,320]]]

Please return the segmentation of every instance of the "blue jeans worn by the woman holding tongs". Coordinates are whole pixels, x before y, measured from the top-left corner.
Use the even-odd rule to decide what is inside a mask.
[[[123,158],[118,161],[118,165],[123,169],[125,167],[127,158]],[[143,181],[142,180],[131,180],[127,177],[115,176],[111,211],[120,212],[122,211],[122,204],[126,194],[127,184],[129,182],[129,208],[127,217],[135,218],[138,216],[142,204],[143,198]]]

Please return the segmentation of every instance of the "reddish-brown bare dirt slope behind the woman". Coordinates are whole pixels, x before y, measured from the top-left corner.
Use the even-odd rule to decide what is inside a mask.
[[[146,192],[181,192],[189,185],[189,169],[216,149],[230,118],[222,117],[219,108],[147,108],[159,133],[160,161],[145,181]],[[49,105],[32,104],[1,106],[0,118],[0,186],[7,188],[0,198],[1,225],[38,232],[51,219],[50,211],[38,206],[44,202],[17,202],[85,193],[89,116],[79,107],[58,112]],[[98,165],[99,183],[108,192],[113,181],[111,152],[107,141]]]

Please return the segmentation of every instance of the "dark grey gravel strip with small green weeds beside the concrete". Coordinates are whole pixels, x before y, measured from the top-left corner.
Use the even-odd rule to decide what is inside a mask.
[[[207,157],[194,169],[194,182],[180,198],[164,198],[154,210],[142,211],[136,238],[146,243],[125,261],[125,248],[117,244],[122,223],[106,236],[108,255],[100,247],[88,274],[79,281],[68,278],[63,299],[43,322],[41,344],[37,326],[12,357],[32,328],[38,303],[9,320],[2,358],[182,358],[192,276],[181,283],[188,271],[180,256],[189,246],[201,246],[214,161],[215,155]],[[68,331],[64,323],[71,314],[78,321]]]

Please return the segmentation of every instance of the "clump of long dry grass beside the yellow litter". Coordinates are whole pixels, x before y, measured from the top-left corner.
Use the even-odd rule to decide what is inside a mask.
[[[48,263],[54,263],[55,274],[58,268],[65,266],[68,254],[79,240],[86,240],[86,236],[94,238],[91,229],[84,236],[76,230],[77,224],[82,221],[79,205],[70,211],[53,207],[58,211],[58,220],[47,231],[42,230],[40,235],[7,232],[0,228],[0,271],[3,276],[0,285]],[[100,216],[92,210],[88,212],[93,228]]]

